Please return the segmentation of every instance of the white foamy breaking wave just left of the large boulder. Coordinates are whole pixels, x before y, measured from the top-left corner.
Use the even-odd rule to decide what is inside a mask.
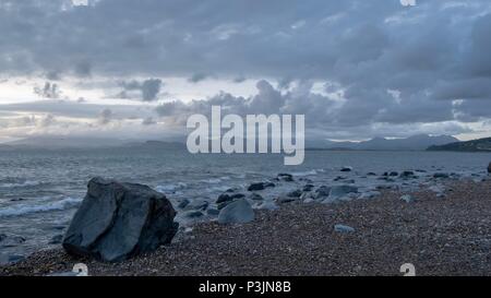
[[[65,198],[59,201],[52,201],[44,204],[17,204],[0,210],[0,217],[20,216],[32,213],[41,213],[50,211],[62,211],[77,206],[81,199]]]

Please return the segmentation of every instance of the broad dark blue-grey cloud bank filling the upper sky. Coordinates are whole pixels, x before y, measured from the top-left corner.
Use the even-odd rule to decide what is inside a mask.
[[[398,0],[89,2],[1,1],[0,69],[279,82],[275,88],[260,81],[251,98],[219,93],[157,108],[177,121],[179,112],[213,103],[240,111],[306,112],[312,128],[359,131],[378,123],[491,118],[487,0],[418,0],[414,8]],[[343,99],[312,93],[313,81],[326,82],[325,91]],[[300,87],[291,91],[294,82]],[[128,82],[124,91],[154,100],[160,82]]]

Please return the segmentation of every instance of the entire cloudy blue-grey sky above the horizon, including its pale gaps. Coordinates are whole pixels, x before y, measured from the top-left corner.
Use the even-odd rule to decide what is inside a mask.
[[[165,139],[304,114],[308,138],[491,135],[489,0],[0,0],[0,142]]]

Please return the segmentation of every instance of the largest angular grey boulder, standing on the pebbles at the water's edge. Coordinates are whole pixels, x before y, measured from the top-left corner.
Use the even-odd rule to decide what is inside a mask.
[[[62,245],[71,254],[122,261],[169,243],[175,216],[166,196],[147,186],[94,178]]]

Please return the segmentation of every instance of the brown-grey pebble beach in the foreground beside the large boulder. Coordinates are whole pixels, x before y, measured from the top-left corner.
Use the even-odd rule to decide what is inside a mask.
[[[120,263],[39,251],[0,275],[49,275],[86,263],[89,275],[491,275],[491,181],[445,182],[444,198],[421,189],[370,200],[284,204],[241,225],[200,223],[182,239]],[[335,225],[355,228],[339,233]]]

